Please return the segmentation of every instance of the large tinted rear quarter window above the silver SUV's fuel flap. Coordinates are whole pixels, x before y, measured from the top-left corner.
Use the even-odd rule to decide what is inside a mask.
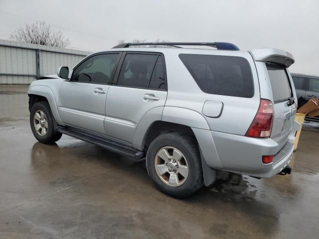
[[[179,58],[203,92],[253,97],[253,77],[245,58],[193,54],[180,54]]]

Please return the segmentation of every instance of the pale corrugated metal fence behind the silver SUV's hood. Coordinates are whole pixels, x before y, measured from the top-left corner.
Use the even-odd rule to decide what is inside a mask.
[[[29,84],[60,66],[72,68],[90,53],[0,39],[0,84]]]

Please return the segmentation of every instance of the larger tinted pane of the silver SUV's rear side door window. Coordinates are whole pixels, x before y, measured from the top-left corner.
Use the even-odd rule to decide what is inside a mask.
[[[151,54],[126,54],[118,85],[147,88],[158,55]]]

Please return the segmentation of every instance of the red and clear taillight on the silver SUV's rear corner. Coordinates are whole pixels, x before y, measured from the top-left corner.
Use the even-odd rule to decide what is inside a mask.
[[[261,99],[258,112],[245,135],[254,138],[270,137],[273,116],[273,103],[269,100]]]

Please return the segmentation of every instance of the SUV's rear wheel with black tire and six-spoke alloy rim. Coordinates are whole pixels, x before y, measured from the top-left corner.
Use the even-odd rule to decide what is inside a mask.
[[[165,161],[166,153],[169,156]],[[180,153],[182,154],[181,156]],[[168,161],[169,157],[171,157],[170,161]],[[179,157],[181,159],[173,162],[173,158],[177,159]],[[169,162],[172,163],[169,164]],[[190,136],[178,132],[170,132],[158,136],[148,148],[146,165],[149,176],[155,186],[169,196],[186,198],[203,186],[203,173],[198,145],[196,140]],[[187,165],[188,169],[187,174],[185,173],[185,165]],[[171,171],[163,173],[164,170]],[[174,170],[176,171],[175,173],[173,172]],[[160,176],[161,173],[163,174]],[[187,176],[185,177],[185,175]],[[170,177],[172,177],[172,180],[170,180]]]

